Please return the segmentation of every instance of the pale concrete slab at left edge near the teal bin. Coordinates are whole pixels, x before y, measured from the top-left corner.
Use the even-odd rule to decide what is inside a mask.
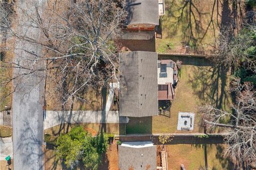
[[[0,137],[0,160],[5,160],[5,157],[12,155],[12,137]]]

